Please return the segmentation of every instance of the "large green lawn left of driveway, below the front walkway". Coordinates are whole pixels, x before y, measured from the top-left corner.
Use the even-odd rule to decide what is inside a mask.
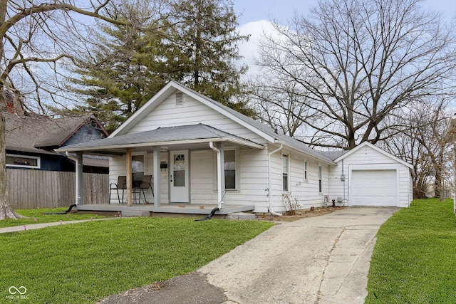
[[[94,303],[194,271],[252,239],[265,221],[135,218],[0,234],[0,303]]]

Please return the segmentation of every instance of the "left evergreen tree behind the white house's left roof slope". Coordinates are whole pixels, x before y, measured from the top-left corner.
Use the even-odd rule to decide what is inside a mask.
[[[96,113],[106,130],[112,132],[160,89],[166,79],[155,72],[154,66],[154,37],[160,33],[157,27],[147,32],[147,28],[157,26],[159,10],[158,1],[135,0],[110,11],[143,31],[100,24],[94,36],[97,47],[81,59],[75,70],[81,78],[73,79],[73,90],[87,98],[73,112]]]

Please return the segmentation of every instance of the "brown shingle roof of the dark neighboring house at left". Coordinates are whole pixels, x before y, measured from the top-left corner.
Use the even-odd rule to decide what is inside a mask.
[[[19,117],[4,113],[6,124],[6,150],[54,154],[53,148],[60,147],[83,125],[100,122],[92,114],[73,117],[50,118],[28,114]],[[103,127],[100,132],[108,135]]]

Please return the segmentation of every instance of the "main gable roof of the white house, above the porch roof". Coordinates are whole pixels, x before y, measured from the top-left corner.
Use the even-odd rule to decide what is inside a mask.
[[[147,114],[149,114],[158,105],[160,105],[160,103],[166,100],[172,93],[175,93],[176,90],[179,90],[180,92],[185,93],[186,95],[189,95],[196,100],[199,100],[199,102],[234,120],[234,122],[239,123],[240,125],[246,127],[248,130],[254,132],[260,137],[263,137],[269,142],[283,144],[285,146],[291,147],[294,150],[299,150],[301,152],[309,154],[316,159],[319,159],[328,164],[334,164],[331,159],[321,154],[320,152],[311,149],[311,147],[304,144],[304,142],[300,142],[299,140],[296,140],[293,137],[289,137],[287,135],[278,134],[271,127],[264,125],[261,122],[258,122],[257,120],[254,120],[250,117],[247,117],[246,115],[243,115],[236,110],[228,108],[227,106],[222,105],[221,103],[218,103],[217,101],[212,100],[211,98],[208,98],[207,96],[204,96],[195,90],[187,88],[185,85],[181,85],[174,80],[171,80],[169,83],[167,83],[157,94],[155,94],[149,101],[147,101],[145,105],[142,105],[138,111],[136,111],[132,116],[130,116],[130,118],[128,118],[128,120],[120,125],[120,127],[118,127],[118,129],[115,130],[109,137],[125,135],[128,130],[130,130],[136,124],[136,122],[142,120]]]

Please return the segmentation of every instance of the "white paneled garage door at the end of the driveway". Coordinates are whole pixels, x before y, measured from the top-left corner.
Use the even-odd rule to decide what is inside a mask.
[[[397,206],[396,170],[353,170],[351,172],[353,206]]]

